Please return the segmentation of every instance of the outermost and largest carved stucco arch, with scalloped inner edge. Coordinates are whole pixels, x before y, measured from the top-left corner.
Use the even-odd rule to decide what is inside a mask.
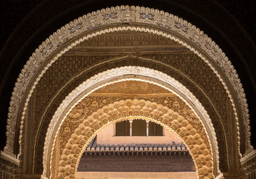
[[[122,19],[121,17],[125,17],[125,19]],[[58,32],[51,35],[38,49],[36,49],[35,53],[33,53],[32,57],[29,59],[19,75],[17,83],[15,84],[14,92],[12,93],[8,115],[5,152],[15,156],[13,154],[13,146],[15,144],[15,133],[13,131],[15,131],[15,128],[20,128],[20,153],[18,158],[20,154],[22,155],[22,142],[25,131],[24,118],[27,114],[26,110],[29,100],[31,96],[35,94],[34,89],[38,82],[41,81],[41,78],[45,75],[49,67],[55,63],[58,57],[83,40],[108,32],[127,30],[155,33],[175,40],[203,59],[215,75],[217,75],[219,81],[221,81],[224,90],[226,90],[225,94],[230,98],[230,103],[233,106],[232,115],[234,116],[232,122],[233,124],[236,124],[236,127],[234,128],[237,134],[235,136],[238,137],[236,138],[237,141],[234,141],[238,146],[236,149],[238,148],[238,153],[240,153],[240,136],[243,136],[243,134],[240,135],[240,132],[242,132],[246,136],[241,140],[242,142],[245,141],[245,145],[242,143],[241,146],[245,148],[245,154],[250,153],[252,149],[250,146],[250,125],[244,90],[241,86],[238,75],[236,74],[236,70],[233,68],[224,52],[222,52],[218,45],[208,38],[204,32],[201,32],[198,28],[192,26],[185,20],[169,13],[134,6],[120,6],[111,9],[103,9],[102,11],[93,12],[87,16],[79,17],[79,19],[74,20],[70,24],[59,29]],[[196,100],[192,100],[193,104],[195,101]],[[197,102],[198,101],[195,103]],[[198,111],[202,111],[203,109],[200,107],[198,108],[198,106],[196,108]],[[60,119],[58,113],[59,111],[57,110],[57,115],[55,115],[54,118],[57,116],[57,118]],[[203,113],[198,113],[198,115],[204,116]],[[19,124],[17,124],[17,121],[19,121],[17,120],[18,116],[21,116],[20,127],[18,126]],[[50,124],[49,128],[51,127],[56,128],[56,125]],[[213,127],[209,128],[214,130]],[[209,133],[212,134],[212,131]],[[55,134],[47,133],[47,135],[54,136]],[[214,135],[215,133],[213,133],[213,136]],[[48,139],[49,136],[46,138],[46,146],[49,144],[49,141],[47,141]],[[224,143],[227,144],[227,141],[225,142]],[[36,146],[36,144],[34,145]],[[218,153],[218,145],[216,146]],[[225,152],[227,151],[223,151],[223,155],[226,155],[227,153]],[[36,150],[34,152],[36,153]],[[241,153],[244,154],[244,151]],[[237,154],[237,151],[235,154]],[[35,161],[36,158],[33,160]],[[44,160],[44,162],[45,161],[49,160]]]

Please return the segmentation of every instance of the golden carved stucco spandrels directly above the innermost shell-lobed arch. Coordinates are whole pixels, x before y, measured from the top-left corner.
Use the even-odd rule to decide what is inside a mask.
[[[131,82],[136,82],[136,81],[131,81]],[[123,82],[119,82],[123,83]],[[117,83],[118,84],[118,83]],[[115,84],[111,84],[108,86],[117,86]],[[160,88],[157,85],[154,85],[154,88]],[[97,90],[96,90],[97,91]],[[93,95],[93,93],[92,93]],[[79,124],[82,123],[83,120],[87,119],[88,116],[92,115],[93,112],[96,110],[101,109],[104,106],[107,106],[109,104],[113,104],[122,100],[134,100],[134,97],[116,97],[116,96],[88,96],[84,98],[79,104],[76,105],[76,107],[73,108],[73,110],[67,115],[67,118],[63,122],[61,129],[59,131],[59,139],[58,143],[55,144],[55,147],[57,146],[58,148],[58,155],[54,152],[53,150],[52,153],[52,161],[51,161],[51,173],[52,179],[55,179],[55,170],[56,167],[55,160],[61,159],[61,155],[63,154],[63,150],[70,139],[70,137],[73,134],[73,131],[75,131],[76,128],[79,127]],[[137,97],[137,100],[144,100],[144,101],[150,101],[151,103],[154,104],[160,104],[162,106],[165,106],[169,109],[172,109],[174,112],[179,113],[182,115],[188,122],[191,124],[201,135],[202,139],[204,140],[204,143],[207,144],[207,148],[210,149],[210,144],[209,144],[209,139],[205,135],[205,130],[203,125],[201,124],[199,118],[195,115],[195,113],[189,108],[188,105],[184,101],[182,101],[179,97],[177,96],[172,96],[172,97]],[[58,167],[57,167],[58,168]]]

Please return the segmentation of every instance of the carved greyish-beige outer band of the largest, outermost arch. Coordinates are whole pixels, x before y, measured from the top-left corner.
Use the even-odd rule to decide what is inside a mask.
[[[121,9],[130,9],[130,11],[122,11]],[[71,22],[70,25],[67,25],[66,27],[63,27],[61,30],[58,30],[58,33],[55,33],[54,35],[52,35],[49,39],[47,39],[47,42],[44,42],[39,47],[39,49],[36,50],[36,52],[33,54],[33,57],[30,58],[30,60],[24,66],[24,69],[22,70],[22,73],[20,74],[20,76],[17,80],[17,83],[15,84],[15,89],[13,92],[13,97],[12,97],[12,101],[10,103],[10,108],[9,108],[10,113],[8,115],[8,125],[7,125],[7,133],[6,133],[6,135],[7,135],[6,146],[9,147],[9,152],[12,152],[12,149],[13,149],[13,137],[14,136],[11,131],[12,131],[12,129],[15,128],[13,126],[13,124],[14,125],[16,124],[15,121],[17,120],[17,109],[19,108],[20,101],[21,101],[21,98],[23,97],[23,94],[24,94],[27,84],[29,83],[30,79],[36,72],[35,68],[38,68],[38,66],[40,66],[40,64],[43,63],[43,61],[47,58],[47,56],[49,56],[55,49],[57,49],[59,46],[61,46],[61,44],[63,44],[65,42],[65,40],[73,38],[76,35],[78,35],[79,33],[85,31],[86,29],[81,28],[81,25],[85,25],[84,27],[89,27],[89,29],[90,29],[90,28],[95,27],[93,25],[89,25],[90,23],[96,24],[100,20],[103,20],[103,21],[105,20],[104,21],[105,24],[113,23],[114,21],[118,22],[118,20],[120,20],[120,19],[118,19],[118,14],[117,14],[116,18],[112,19],[112,17],[109,16],[109,14],[111,14],[111,12],[109,12],[109,11],[113,11],[114,13],[118,13],[118,11],[121,11],[120,13],[126,13],[128,15],[127,16],[125,15],[122,17],[125,17],[126,20],[130,18],[131,21],[143,20],[143,23],[151,23],[151,24],[159,25],[159,24],[157,24],[157,20],[160,20],[160,24],[165,24],[165,25],[161,25],[164,28],[168,28],[175,32],[178,32],[187,38],[192,38],[191,40],[193,40],[196,44],[205,44],[204,46],[200,45],[201,48],[203,48],[217,63],[219,62],[218,64],[222,67],[222,69],[225,69],[225,73],[227,74],[227,77],[230,78],[230,82],[231,82],[232,86],[234,87],[235,91],[237,92],[239,101],[242,104],[241,106],[243,107],[242,112],[243,112],[243,117],[244,117],[244,124],[247,127],[246,131],[248,132],[248,135],[246,138],[247,146],[250,146],[250,139],[249,139],[250,138],[250,132],[249,132],[250,127],[249,127],[249,120],[248,120],[249,116],[247,114],[248,111],[247,111],[245,95],[243,93],[244,90],[241,87],[240,80],[236,74],[236,71],[233,69],[233,66],[230,64],[230,61],[228,61],[228,58],[225,57],[223,52],[221,52],[221,49],[219,49],[219,47],[217,45],[215,45],[215,43],[212,42],[210,38],[207,38],[207,35],[203,35],[203,32],[201,32],[199,29],[195,28],[195,26],[192,26],[190,23],[187,23],[186,21],[183,21],[183,20],[177,18],[176,16],[173,16],[172,14],[160,12],[160,11],[157,11],[154,9],[145,9],[145,8],[140,8],[140,7],[137,7],[136,10],[135,9],[136,9],[135,7],[122,6],[122,7],[116,7],[113,9],[107,9],[107,10],[103,10],[102,12],[99,11],[99,12],[95,13],[95,14],[101,14],[101,16],[100,15],[92,16],[92,14],[89,14],[88,16],[81,17],[78,20]],[[136,16],[135,14],[137,12],[141,12],[142,14],[134,19],[134,17]],[[106,13],[106,15],[104,15],[104,13]],[[134,14],[132,14],[132,13],[134,13]],[[145,13],[146,16],[143,15],[143,13]],[[140,13],[138,13],[138,14],[140,14]],[[135,15],[135,16],[133,16],[133,15]],[[89,18],[86,18],[86,17],[89,17]],[[101,17],[102,17],[102,19],[101,19]],[[148,18],[148,17],[150,17],[150,18]],[[94,19],[94,20],[92,20],[92,19]],[[86,23],[84,23],[84,21]],[[100,23],[103,24],[102,21]],[[171,25],[171,26],[168,26],[168,25]],[[61,37],[67,38],[67,39],[61,39]],[[198,37],[198,39],[195,39],[195,37]],[[194,49],[192,49],[192,50],[194,50]],[[61,53],[64,53],[64,52],[65,51],[63,51]],[[218,55],[216,55],[216,54],[218,54]],[[56,60],[56,58],[55,58],[55,60]],[[208,62],[209,61],[207,61],[207,63]],[[53,61],[51,62],[51,64],[52,63],[53,63]],[[48,67],[51,64],[49,64]],[[42,72],[42,74],[48,69],[48,67],[45,68],[45,70]],[[39,78],[41,78],[41,76]],[[218,75],[218,77],[220,78],[219,75]],[[235,78],[233,78],[233,77],[235,77]],[[38,80],[39,80],[39,78],[38,78]],[[35,82],[35,84],[37,84],[37,81]],[[224,82],[223,82],[223,84],[224,84]],[[35,86],[32,87],[32,91],[34,88],[35,88]],[[226,86],[225,86],[225,89],[227,90]],[[31,93],[32,93],[32,91],[31,91]],[[31,96],[31,93],[29,95],[29,98]],[[26,108],[27,102],[29,101],[29,98],[26,100],[25,108]],[[232,105],[234,106],[234,104],[232,104]],[[235,114],[236,114],[236,110],[235,110]],[[23,120],[23,118],[22,118],[22,120]]]

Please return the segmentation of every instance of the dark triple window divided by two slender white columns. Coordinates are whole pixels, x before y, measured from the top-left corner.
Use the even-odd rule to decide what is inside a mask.
[[[135,119],[117,122],[115,132],[115,136],[163,136],[163,127],[151,121]]]

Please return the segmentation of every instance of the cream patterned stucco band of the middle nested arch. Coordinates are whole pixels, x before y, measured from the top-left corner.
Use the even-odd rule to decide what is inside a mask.
[[[138,70],[138,69],[140,69],[140,70]],[[112,71],[114,71],[115,73],[113,74]],[[49,125],[48,132],[47,132],[48,135],[47,135],[47,138],[46,138],[46,141],[45,141],[45,147],[44,148],[45,149],[49,148],[50,140],[52,139],[52,137],[50,137],[52,132],[49,132],[49,131],[54,130],[54,127],[56,126],[56,123],[59,123],[61,121],[60,122],[61,124],[59,125],[59,128],[60,128],[61,125],[62,125],[62,122],[67,117],[67,114],[73,109],[73,107],[75,107],[76,104],[79,103],[79,101],[81,101],[84,97],[89,95],[91,92],[99,89],[100,87],[106,86],[108,84],[113,84],[113,83],[116,83],[116,82],[120,82],[120,81],[103,84],[102,86],[99,86],[99,87],[95,88],[94,90],[88,92],[86,95],[84,95],[84,97],[82,97],[79,101],[77,101],[76,104],[73,105],[73,107],[71,107],[69,112],[61,120],[59,117],[60,117],[60,115],[62,115],[64,113],[64,110],[67,109],[67,105],[70,104],[70,101],[73,101],[76,98],[77,95],[81,94],[81,92],[84,92],[84,90],[86,90],[87,87],[91,85],[91,83],[93,83],[93,84],[97,83],[98,84],[101,80],[105,81],[106,79],[108,79],[109,78],[108,75],[111,75],[111,77],[113,78],[114,76],[119,76],[120,74],[124,75],[126,72],[128,74],[134,74],[134,75],[142,75],[142,74],[145,75],[146,74],[148,77],[157,78],[160,81],[165,81],[167,84],[170,84],[173,88],[179,90],[179,92],[181,94],[183,94],[184,96],[186,96],[187,98],[189,98],[189,100],[196,106],[196,109],[199,110],[199,113],[201,113],[201,115],[203,116],[204,121],[205,121],[206,125],[208,126],[208,129],[212,130],[209,133],[215,135],[214,128],[212,127],[212,123],[211,123],[211,120],[209,118],[209,115],[204,110],[204,107],[201,106],[201,103],[195,98],[195,96],[191,92],[189,92],[189,90],[186,89],[186,87],[184,87],[182,84],[177,82],[175,79],[169,77],[168,75],[166,75],[166,74],[164,74],[162,72],[158,72],[158,71],[152,70],[152,69],[147,69],[147,68],[144,68],[144,67],[125,66],[125,67],[121,67],[121,68],[116,68],[116,69],[108,70],[107,72],[100,73],[99,75],[96,75],[95,77],[92,77],[92,78],[90,78],[87,81],[84,81],[84,83],[80,84],[79,87],[76,88],[76,90],[73,90],[65,98],[65,100],[62,102],[60,107],[58,107],[58,109],[56,110],[55,115],[52,118],[51,124]],[[101,77],[101,78],[99,78],[99,77]],[[125,81],[125,80],[128,80],[128,81],[129,80],[145,81],[145,80],[141,80],[141,79],[131,79],[131,78],[123,79],[122,81]],[[157,83],[151,82],[151,81],[145,81],[145,82],[157,84]],[[160,85],[160,84],[157,84],[157,85],[159,85],[160,87],[164,87],[163,85]],[[164,87],[164,88],[166,88],[166,89],[170,90],[171,92],[175,93],[176,95],[178,95],[173,90],[171,90],[171,89],[169,89],[167,87]],[[180,95],[178,95],[178,96],[180,97]],[[186,104],[189,105],[187,102],[186,102]],[[194,110],[193,110],[193,112],[195,113]],[[202,123],[202,121],[201,121],[201,123]],[[202,125],[203,125],[203,123],[202,123]],[[59,128],[58,128],[58,130],[59,130]],[[207,131],[206,131],[206,135],[207,135]],[[216,138],[214,136],[212,136],[212,138],[213,138],[212,143],[215,145],[215,149],[216,149],[216,154],[215,155],[216,155],[217,163],[218,163],[218,150],[217,150],[218,144],[217,144]],[[48,152],[49,152],[48,150],[44,150],[44,162],[43,162],[44,165],[46,165],[46,163],[47,163],[46,156],[48,155],[47,154]],[[218,164],[217,164],[217,168],[218,168]],[[46,170],[46,167],[44,167],[44,170]]]

